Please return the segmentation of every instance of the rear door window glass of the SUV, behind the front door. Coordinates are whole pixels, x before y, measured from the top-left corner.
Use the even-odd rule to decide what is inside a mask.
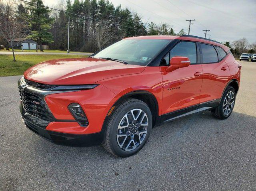
[[[204,63],[218,62],[218,54],[212,45],[201,44]]]

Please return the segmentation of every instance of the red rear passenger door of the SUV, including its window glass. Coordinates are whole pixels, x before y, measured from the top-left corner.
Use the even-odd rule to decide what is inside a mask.
[[[225,62],[226,52],[210,44],[199,43],[203,69],[203,83],[200,103],[219,99],[230,77],[230,70]]]

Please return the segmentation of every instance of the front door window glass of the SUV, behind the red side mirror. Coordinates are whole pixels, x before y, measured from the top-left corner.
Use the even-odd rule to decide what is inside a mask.
[[[197,63],[196,43],[194,42],[180,42],[171,50],[170,57],[184,56],[190,59],[190,63]]]

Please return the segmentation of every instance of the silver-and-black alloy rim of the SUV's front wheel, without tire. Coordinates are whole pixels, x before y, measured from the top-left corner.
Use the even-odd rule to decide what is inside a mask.
[[[120,120],[116,132],[118,146],[124,151],[136,149],[146,138],[148,116],[141,109],[128,111]]]

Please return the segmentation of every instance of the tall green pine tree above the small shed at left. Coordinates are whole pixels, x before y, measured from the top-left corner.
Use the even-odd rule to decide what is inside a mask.
[[[40,45],[40,51],[43,52],[42,42],[52,43],[52,33],[49,32],[53,19],[49,18],[50,10],[46,7],[42,7],[42,0],[31,0],[33,4],[30,4],[28,9],[30,10],[29,25],[32,29],[29,38],[38,41]]]

